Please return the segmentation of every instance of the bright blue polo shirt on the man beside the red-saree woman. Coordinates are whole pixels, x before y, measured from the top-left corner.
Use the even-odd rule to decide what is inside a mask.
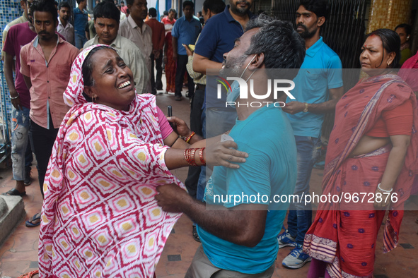
[[[342,64],[338,55],[323,42],[318,42],[306,50],[301,69],[294,78],[295,88],[291,94],[296,99],[287,97],[286,102],[322,103],[330,99],[329,89],[342,87]],[[319,138],[324,121],[324,114],[299,112],[287,114],[294,134]]]

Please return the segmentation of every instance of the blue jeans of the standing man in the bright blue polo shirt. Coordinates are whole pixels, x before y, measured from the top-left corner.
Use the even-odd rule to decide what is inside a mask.
[[[320,156],[320,138],[295,135],[296,148],[298,151],[298,176],[294,194],[302,198],[309,194],[309,181],[313,164]],[[305,205],[304,198],[299,203],[291,203],[287,216],[289,234],[296,238],[296,243],[303,245],[306,231],[312,224],[312,206]]]

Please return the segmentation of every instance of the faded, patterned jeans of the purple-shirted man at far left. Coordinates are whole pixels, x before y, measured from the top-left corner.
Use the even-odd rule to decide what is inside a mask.
[[[32,163],[32,159],[30,159],[32,151],[30,151],[30,155],[26,155],[29,143],[29,112],[30,109],[26,107],[22,107],[22,110],[15,107],[11,109],[11,161],[13,164],[13,179],[16,181],[25,179],[25,167],[29,167]]]

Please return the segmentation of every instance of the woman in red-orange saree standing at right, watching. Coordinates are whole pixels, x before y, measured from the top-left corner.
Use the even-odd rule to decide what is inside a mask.
[[[393,71],[399,61],[396,35],[379,29],[366,37],[360,62],[369,77],[337,103],[323,195],[338,195],[342,202],[320,203],[306,233],[303,250],[313,258],[308,277],[373,277],[376,238],[389,204],[383,252],[397,246],[403,205],[418,170],[418,109],[411,88]],[[351,201],[345,203],[346,197]]]

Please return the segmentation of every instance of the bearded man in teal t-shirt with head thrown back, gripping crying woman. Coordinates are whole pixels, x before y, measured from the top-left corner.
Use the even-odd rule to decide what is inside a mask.
[[[304,54],[303,40],[291,24],[262,15],[248,22],[226,54],[225,68],[242,72],[241,81],[253,84],[255,91],[267,92],[272,76],[265,68],[299,68]],[[245,163],[238,169],[214,167],[207,205],[178,186],[157,188],[156,200],[164,211],[184,212],[197,223],[202,246],[185,277],[271,277],[274,272],[277,234],[288,207],[274,197],[294,191],[296,143],[286,114],[273,104],[273,94],[261,100],[248,90],[248,97],[241,99],[240,87],[233,88],[228,101],[236,102],[238,119],[223,138],[230,136],[238,150],[248,153]],[[260,101],[269,105],[258,105]]]

